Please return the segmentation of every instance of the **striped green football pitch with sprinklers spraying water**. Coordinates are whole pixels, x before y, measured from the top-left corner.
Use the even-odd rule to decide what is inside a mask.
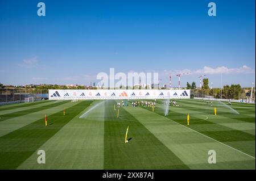
[[[0,106],[0,169],[255,169],[255,104],[176,100],[165,116],[162,100],[154,112],[127,102],[117,117],[116,103]],[[46,163],[38,163],[38,150]],[[216,163],[208,163],[210,150]]]

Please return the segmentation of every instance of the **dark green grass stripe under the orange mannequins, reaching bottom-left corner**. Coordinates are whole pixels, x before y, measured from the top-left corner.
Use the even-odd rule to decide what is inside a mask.
[[[16,169],[89,104],[83,101],[67,108],[65,116],[63,111],[50,115],[47,127],[43,118],[0,137],[0,169]]]

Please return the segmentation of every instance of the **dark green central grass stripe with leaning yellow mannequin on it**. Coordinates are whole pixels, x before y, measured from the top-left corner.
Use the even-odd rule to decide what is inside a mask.
[[[129,112],[121,108],[117,118],[114,103],[105,104],[104,169],[189,169]]]

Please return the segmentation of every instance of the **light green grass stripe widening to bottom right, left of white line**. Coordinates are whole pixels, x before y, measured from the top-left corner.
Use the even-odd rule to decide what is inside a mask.
[[[241,161],[252,159],[245,154],[239,153],[237,150],[230,149],[227,145],[222,145],[212,138],[208,138],[203,134],[197,133],[192,129],[188,129],[184,125],[180,125],[175,121],[156,114],[150,110],[140,107],[125,107],[144,127],[153,133],[164,145],[177,155],[185,165],[195,169],[191,164],[204,163],[197,169],[213,169],[212,164],[208,163],[208,151],[216,150],[218,168],[222,169],[241,169],[245,167],[225,166],[221,162]],[[152,125],[149,122],[158,122],[159,125]],[[163,125],[160,123],[170,123]],[[250,165],[250,169],[255,166]]]

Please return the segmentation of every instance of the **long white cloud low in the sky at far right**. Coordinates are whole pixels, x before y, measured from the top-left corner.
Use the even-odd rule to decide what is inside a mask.
[[[251,74],[255,73],[255,70],[249,68],[246,65],[243,65],[241,68],[226,68],[225,66],[220,66],[217,68],[210,68],[208,66],[204,66],[203,69],[196,70],[197,74],[234,74],[234,73],[243,73],[243,74]]]

